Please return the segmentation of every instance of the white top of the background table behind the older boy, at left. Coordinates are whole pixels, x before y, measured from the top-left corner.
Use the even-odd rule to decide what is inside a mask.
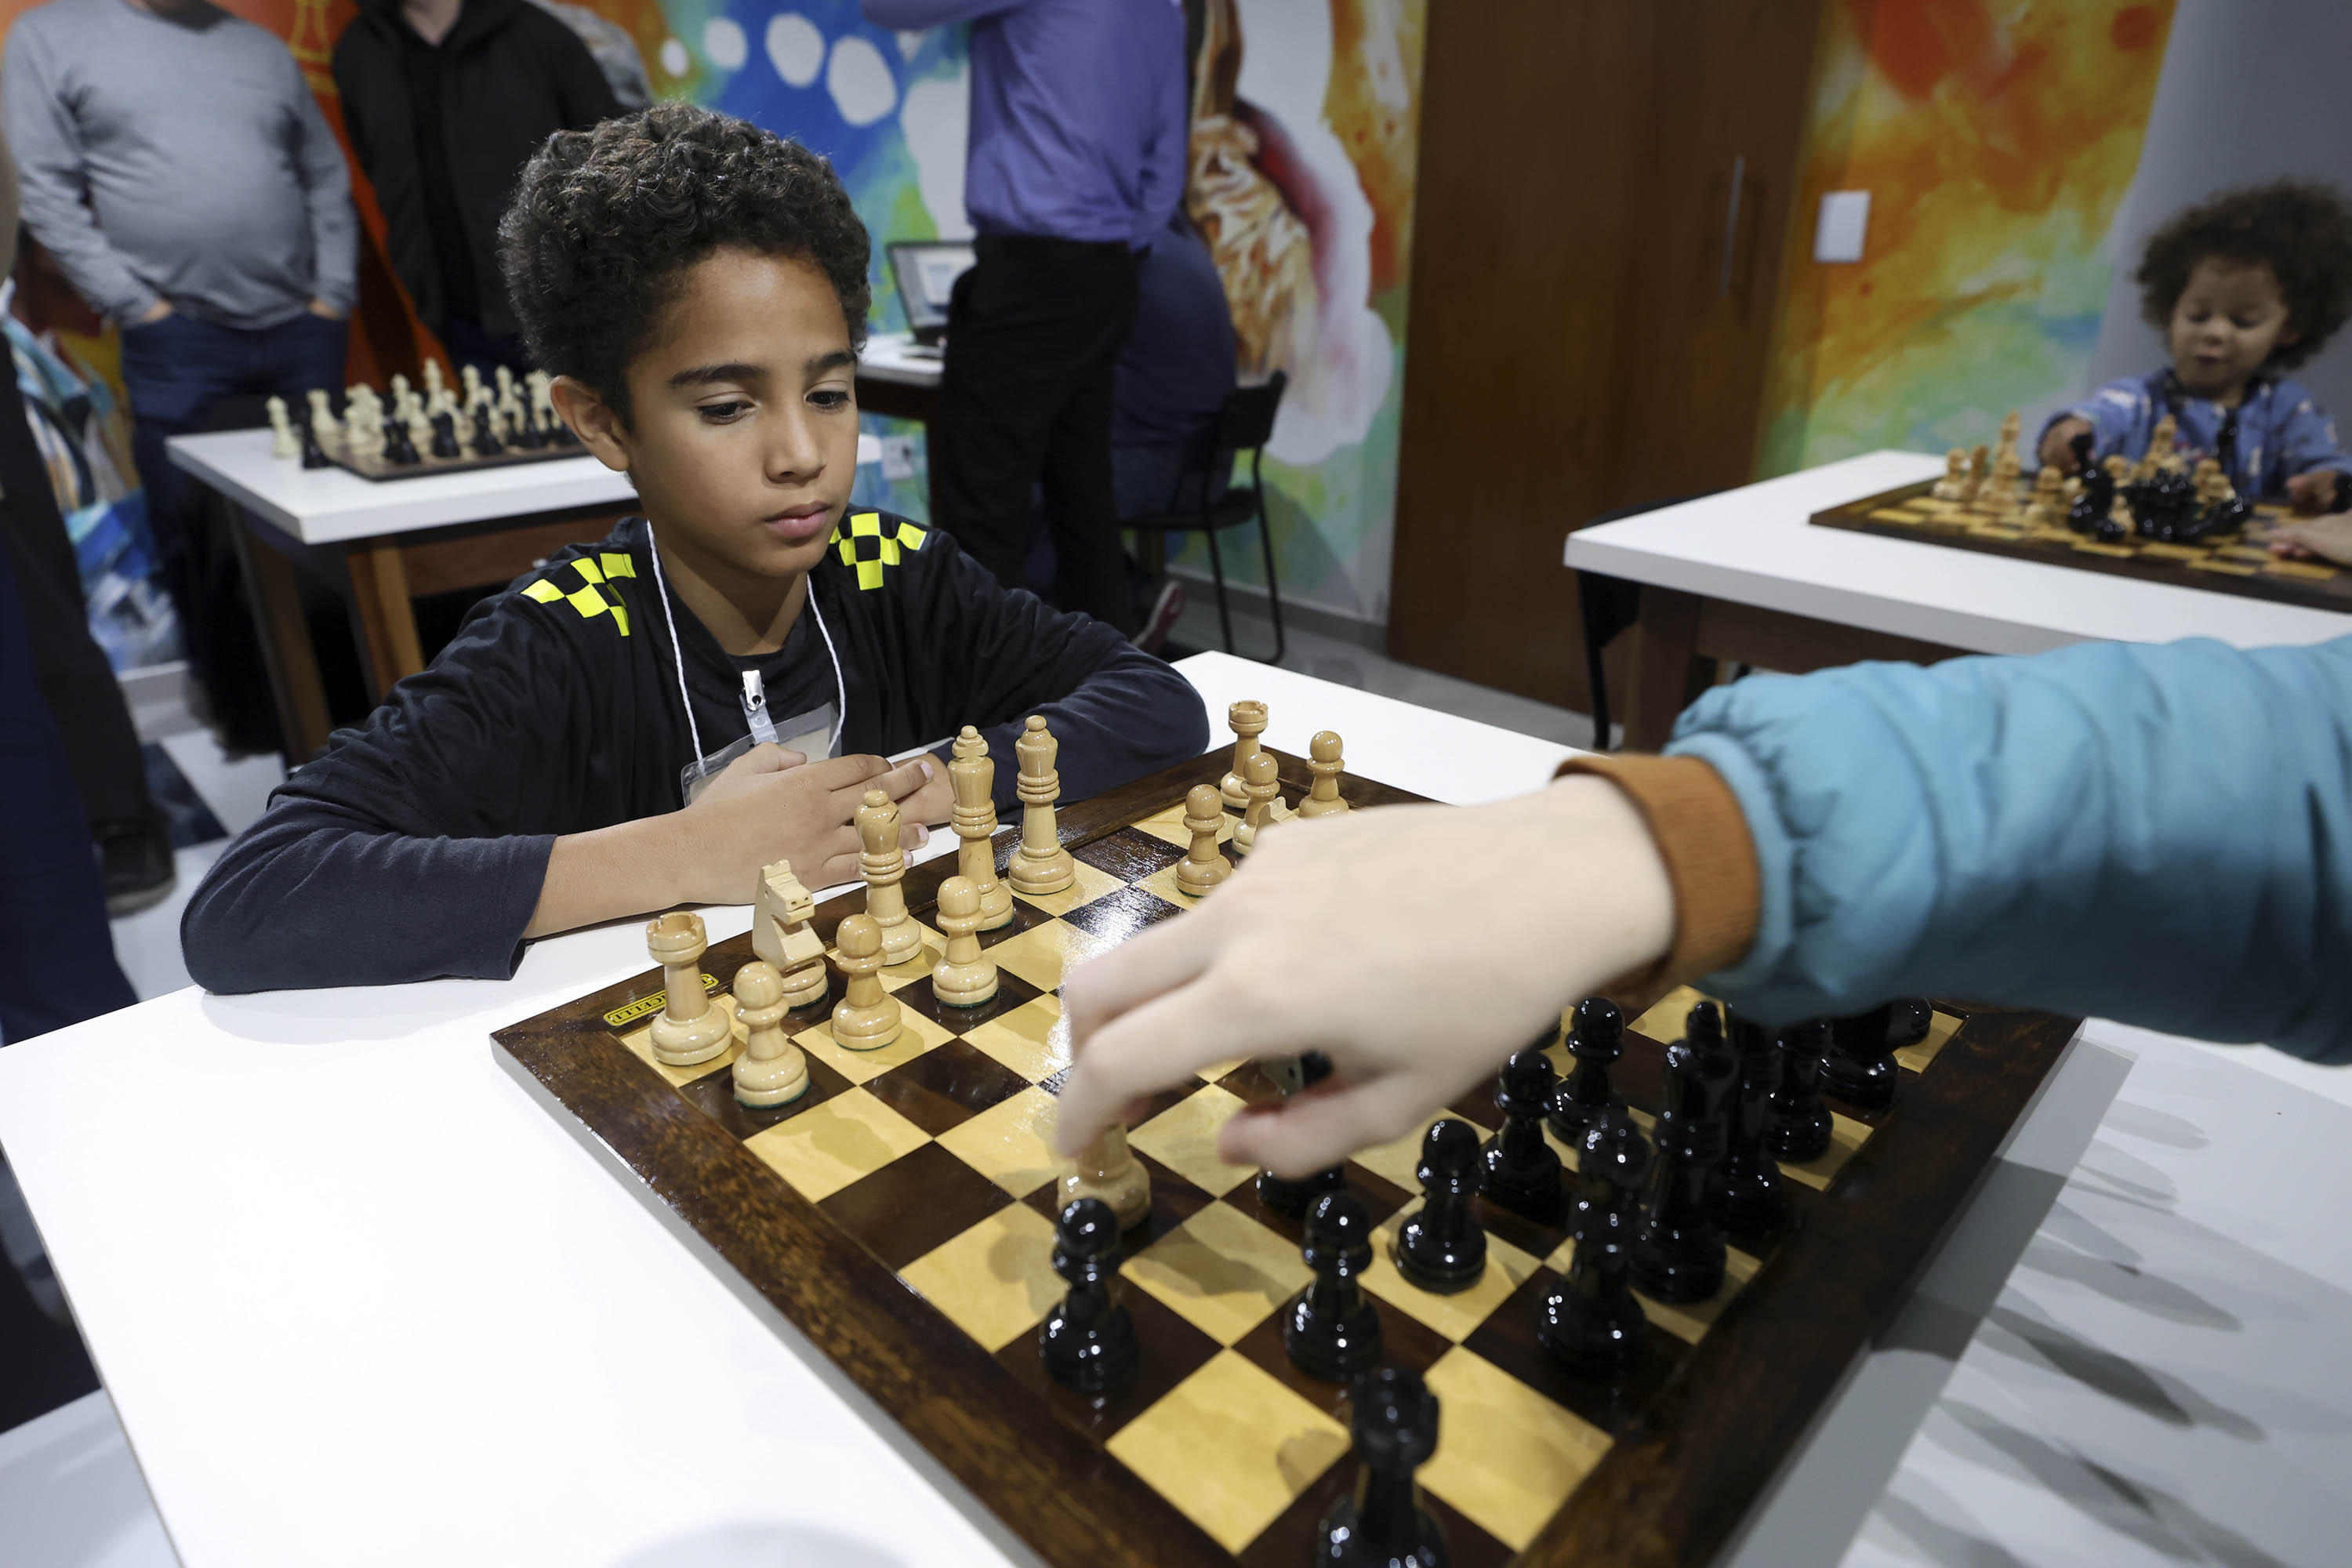
[[[306,545],[588,505],[626,508],[637,498],[628,475],[590,456],[414,480],[362,480],[343,468],[303,468],[292,458],[273,458],[268,430],[174,435],[165,447],[172,463]],[[880,437],[858,435],[858,463],[880,461]]]

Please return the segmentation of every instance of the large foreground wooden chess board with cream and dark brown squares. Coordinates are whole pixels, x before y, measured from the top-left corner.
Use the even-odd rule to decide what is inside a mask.
[[[1305,764],[1277,759],[1284,797],[1298,799]],[[1357,1472],[1345,1389],[1291,1366],[1277,1333],[1277,1309],[1310,1279],[1301,1227],[1258,1204],[1254,1171],[1216,1159],[1225,1117],[1272,1093],[1254,1065],[1162,1093],[1129,1135],[1152,1178],[1150,1218],[1127,1234],[1122,1262],[1141,1340],[1134,1382],[1075,1394],[1044,1375],[1035,1347],[1063,1291],[1049,1267],[1061,1166],[1047,1138],[1070,1067],[1056,987],[1075,959],[1183,917],[1181,802],[1225,764],[1202,757],[1063,806],[1077,884],[1014,896],[1014,922],[983,938],[1002,990],[969,1013],[941,1006],[924,980],[943,950],[934,896],[955,858],[908,872],[924,952],[882,971],[906,1032],[873,1053],[837,1046],[835,973],[828,999],[786,1023],[811,1079],[793,1105],[734,1100],[741,1027],[724,1058],[654,1060],[661,969],[496,1032],[503,1065],[687,1246],[830,1356],[875,1420],[903,1427],[1049,1563],[1303,1566],[1315,1523]],[[1355,806],[1416,799],[1357,776],[1343,795]],[[1011,846],[1007,827],[1000,867]],[[833,898],[814,929],[830,943],[861,907],[863,893]],[[703,985],[724,992],[748,959],[748,936],[713,943]],[[1644,1128],[1663,1103],[1665,1041],[1691,1001],[1665,997],[1625,1032],[1613,1079]],[[1484,1279],[1430,1295],[1385,1253],[1418,1201],[1421,1128],[1348,1161],[1350,1190],[1381,1220],[1364,1284],[1385,1356],[1421,1371],[1442,1401],[1439,1448],[1418,1479],[1451,1561],[1712,1561],[1903,1300],[2072,1032],[2042,1013],[1938,1009],[1926,1039],[1898,1056],[1893,1107],[1837,1107],[1830,1152],[1785,1168],[1790,1225],[1733,1239],[1719,1298],[1644,1300],[1646,1340],[1618,1380],[1573,1378],[1536,1342],[1536,1307],[1566,1267],[1564,1229],[1479,1199]],[[1550,1053],[1566,1065],[1557,1039]],[[1451,1114],[1501,1126],[1491,1084]]]

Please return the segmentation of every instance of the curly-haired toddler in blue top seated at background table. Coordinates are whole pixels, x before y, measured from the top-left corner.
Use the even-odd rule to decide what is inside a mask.
[[[2042,463],[2150,456],[2171,416],[2176,451],[2218,456],[2246,498],[2298,512],[2352,505],[2352,456],[2336,425],[2284,371],[2319,353],[2352,308],[2352,207],[2326,186],[2279,181],[2190,207],[2147,240],[2140,310],[2171,364],[2098,388],[2042,430]],[[2166,454],[2152,454],[2166,456]]]

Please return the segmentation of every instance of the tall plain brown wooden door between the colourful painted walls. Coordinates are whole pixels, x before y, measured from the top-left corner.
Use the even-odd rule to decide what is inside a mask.
[[[1816,31],[1430,7],[1390,654],[1583,708],[1569,529],[1750,477]]]

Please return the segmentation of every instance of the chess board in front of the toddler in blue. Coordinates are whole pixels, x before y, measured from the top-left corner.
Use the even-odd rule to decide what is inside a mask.
[[[1832,505],[1813,512],[1813,522],[1825,529],[1851,529],[1856,534],[1884,534],[1886,538],[1917,538],[1931,545],[1957,550],[1983,550],[1987,555],[2013,555],[2053,567],[2079,567],[2084,571],[2112,571],[2150,583],[2173,583],[2178,588],[2211,588],[2251,599],[2277,599],[2281,604],[2310,604],[2352,614],[2352,571],[2328,562],[2291,562],[2270,555],[2267,536],[2284,517],[2284,508],[2260,503],[2256,520],[2244,534],[2211,538],[2194,545],[2171,545],[2154,538],[2126,536],[2112,545],[2074,534],[2060,520],[2053,527],[2027,527],[2023,482],[2009,496],[1992,496],[1976,503],[1936,501],[1929,491],[1933,480],[1889,489],[1877,496]]]

